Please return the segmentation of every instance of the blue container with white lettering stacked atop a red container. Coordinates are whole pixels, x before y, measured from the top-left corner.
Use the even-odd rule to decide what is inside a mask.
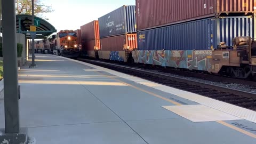
[[[100,38],[136,33],[135,6],[122,6],[99,18]]]

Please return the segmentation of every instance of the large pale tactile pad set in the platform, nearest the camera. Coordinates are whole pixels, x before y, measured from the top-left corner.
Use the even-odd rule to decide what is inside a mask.
[[[163,106],[163,108],[192,122],[233,121],[242,119],[204,105]]]

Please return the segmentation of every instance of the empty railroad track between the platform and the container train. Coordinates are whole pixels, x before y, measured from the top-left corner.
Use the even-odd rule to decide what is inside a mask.
[[[197,82],[190,79],[170,76],[166,74],[155,73],[153,71],[116,65],[113,63],[87,59],[78,60],[256,111],[255,93],[231,89],[229,87],[223,87],[210,83]]]

